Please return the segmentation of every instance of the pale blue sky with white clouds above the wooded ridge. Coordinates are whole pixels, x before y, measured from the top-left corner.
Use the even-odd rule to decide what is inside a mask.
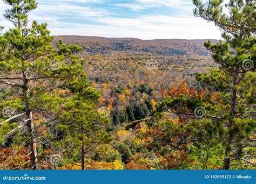
[[[52,35],[140,39],[220,39],[213,23],[194,17],[192,0],[37,0],[29,20],[48,23]],[[0,25],[8,9],[0,0]]]

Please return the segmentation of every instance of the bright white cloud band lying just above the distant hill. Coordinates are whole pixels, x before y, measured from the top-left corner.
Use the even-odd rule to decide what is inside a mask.
[[[158,24],[156,24],[156,22]],[[160,24],[159,24],[160,23]],[[220,32],[212,23],[202,19],[167,16],[143,17],[140,19],[110,18],[107,25],[84,25],[58,23],[50,25],[53,34],[100,37],[132,37],[140,39],[219,39]]]

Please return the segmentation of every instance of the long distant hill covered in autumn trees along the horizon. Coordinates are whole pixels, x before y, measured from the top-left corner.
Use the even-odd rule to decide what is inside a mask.
[[[125,55],[200,55],[210,52],[204,47],[207,40],[156,39],[141,40],[136,38],[104,38],[85,36],[56,36],[65,44],[77,44],[90,54],[125,54]],[[211,40],[215,43],[217,40]]]

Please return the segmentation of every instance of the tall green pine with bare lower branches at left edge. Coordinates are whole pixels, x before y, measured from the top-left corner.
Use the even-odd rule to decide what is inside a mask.
[[[10,122],[17,123],[18,129],[27,128],[24,141],[30,149],[30,165],[38,168],[37,144],[48,145],[41,136],[46,125],[56,121],[58,104],[55,95],[65,83],[76,79],[83,68],[74,55],[82,50],[76,45],[57,42],[57,49],[51,45],[53,37],[47,24],[33,21],[29,27],[28,14],[37,8],[30,1],[4,0],[11,6],[4,17],[14,28],[0,35],[0,83],[15,89],[3,104],[1,128]],[[8,116],[4,116],[4,115]],[[39,122],[35,124],[35,121]],[[0,131],[1,132],[1,131]],[[12,130],[1,137],[14,135]],[[48,145],[51,146],[51,145]]]

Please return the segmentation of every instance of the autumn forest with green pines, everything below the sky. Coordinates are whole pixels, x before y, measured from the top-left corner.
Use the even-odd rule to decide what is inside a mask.
[[[51,36],[3,2],[0,169],[255,169],[253,0],[193,0],[221,40]]]

